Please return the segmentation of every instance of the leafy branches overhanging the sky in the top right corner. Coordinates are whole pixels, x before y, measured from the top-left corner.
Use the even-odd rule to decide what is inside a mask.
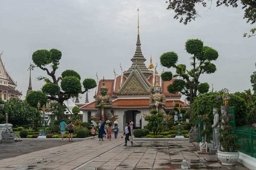
[[[207,6],[208,2],[208,6]],[[174,10],[175,15],[174,19],[180,19],[180,23],[186,25],[188,22],[195,20],[197,17],[200,17],[200,14],[196,10],[196,5],[202,5],[205,8],[211,8],[213,4],[212,0],[168,0],[168,10]],[[244,19],[247,19],[247,23],[251,25],[256,22],[256,1],[255,0],[217,0],[216,6],[225,6],[225,7],[238,7],[238,4],[241,3],[242,9],[244,9]],[[185,18],[183,18],[185,17]],[[250,30],[251,34],[244,34],[244,37],[255,36],[256,28]]]

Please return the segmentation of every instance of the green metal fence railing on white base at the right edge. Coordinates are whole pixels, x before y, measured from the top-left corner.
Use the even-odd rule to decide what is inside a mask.
[[[256,158],[256,130],[251,126],[235,127],[236,143],[241,145],[239,151]]]

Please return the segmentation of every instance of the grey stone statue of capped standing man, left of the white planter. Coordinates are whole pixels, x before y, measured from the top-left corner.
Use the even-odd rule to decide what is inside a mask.
[[[211,148],[218,148],[219,147],[219,114],[218,114],[218,109],[213,107],[213,125],[211,126],[213,128],[213,142],[212,142],[212,147]]]

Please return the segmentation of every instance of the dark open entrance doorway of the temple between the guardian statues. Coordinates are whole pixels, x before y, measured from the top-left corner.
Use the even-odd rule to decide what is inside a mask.
[[[124,129],[125,129],[125,124],[126,122],[129,122],[129,120],[132,120],[133,123],[135,123],[136,128],[140,127],[140,119],[141,119],[141,114],[140,111],[138,110],[127,110],[125,111],[124,114]]]

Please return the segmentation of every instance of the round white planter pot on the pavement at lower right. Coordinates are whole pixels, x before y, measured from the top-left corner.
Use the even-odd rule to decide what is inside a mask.
[[[222,152],[217,151],[217,156],[222,165],[235,165],[239,159],[239,152]]]

